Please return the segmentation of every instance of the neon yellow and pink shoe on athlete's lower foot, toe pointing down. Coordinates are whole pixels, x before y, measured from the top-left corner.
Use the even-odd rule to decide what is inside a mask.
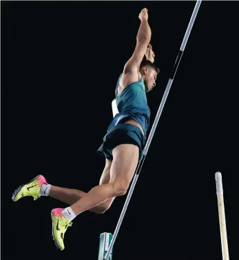
[[[54,208],[51,212],[52,215],[52,237],[56,244],[56,247],[60,250],[65,248],[64,246],[64,236],[65,231],[69,226],[72,226],[72,222],[66,219],[61,211],[63,208]]]

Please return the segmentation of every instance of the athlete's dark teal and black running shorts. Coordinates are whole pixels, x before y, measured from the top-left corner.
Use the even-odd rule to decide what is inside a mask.
[[[109,160],[113,160],[112,150],[123,143],[131,143],[139,148],[139,159],[142,157],[145,146],[145,136],[140,128],[131,123],[119,123],[105,134],[103,143],[98,148],[98,154],[104,154]]]

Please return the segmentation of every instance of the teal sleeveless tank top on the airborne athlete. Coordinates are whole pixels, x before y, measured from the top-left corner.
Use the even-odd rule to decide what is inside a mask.
[[[146,132],[149,128],[150,110],[147,106],[147,97],[143,77],[141,80],[129,84],[129,86],[127,86],[121,94],[118,94],[118,84],[121,77],[122,74],[118,78],[115,89],[118,114],[115,115],[107,130],[109,131],[118,123],[123,123],[128,119],[134,119],[141,125],[146,137]]]

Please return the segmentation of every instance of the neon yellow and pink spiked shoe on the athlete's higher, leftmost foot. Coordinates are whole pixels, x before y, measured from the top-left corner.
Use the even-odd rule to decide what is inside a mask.
[[[43,183],[48,184],[43,175],[38,175],[28,183],[23,184],[12,194],[12,200],[18,201],[22,197],[32,196],[34,201],[41,197],[40,190]]]

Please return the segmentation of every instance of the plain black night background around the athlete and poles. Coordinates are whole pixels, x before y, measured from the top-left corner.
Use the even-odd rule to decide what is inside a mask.
[[[149,10],[157,86],[150,128],[196,1],[1,1],[1,251],[4,259],[97,259],[126,196],[51,237],[50,197],[11,201],[37,174],[90,190],[119,74]],[[239,3],[202,1],[114,245],[114,260],[222,259],[215,172],[222,172],[230,259],[238,259]],[[148,132],[149,134],[149,132]],[[71,257],[71,258],[70,258]]]

